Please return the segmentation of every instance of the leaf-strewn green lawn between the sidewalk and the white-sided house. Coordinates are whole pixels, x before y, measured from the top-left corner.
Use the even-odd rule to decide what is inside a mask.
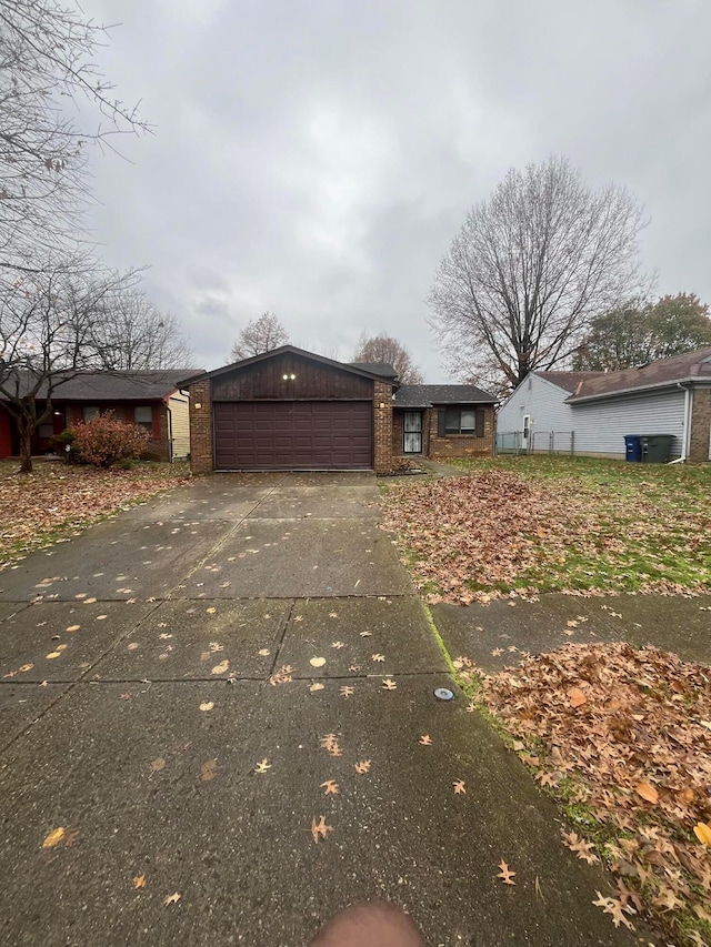
[[[434,601],[711,587],[711,464],[523,456],[457,466],[462,477],[383,490],[384,525]]]

